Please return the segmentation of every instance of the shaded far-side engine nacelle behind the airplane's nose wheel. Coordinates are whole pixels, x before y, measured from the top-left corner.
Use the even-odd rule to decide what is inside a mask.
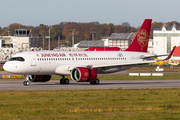
[[[51,75],[30,75],[29,81],[31,82],[47,82],[51,79]]]

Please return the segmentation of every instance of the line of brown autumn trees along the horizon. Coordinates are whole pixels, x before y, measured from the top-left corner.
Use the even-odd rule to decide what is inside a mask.
[[[153,29],[161,28],[164,23],[162,22],[153,22],[151,26],[150,38],[153,38]],[[177,28],[180,27],[180,23],[176,21],[165,23],[167,28],[172,27],[173,24],[176,24]],[[15,29],[31,29],[32,37],[42,38],[49,36],[49,28],[51,34],[51,41],[57,41],[60,37],[60,40],[69,41],[71,44],[72,32],[71,29],[75,29],[75,43],[78,43],[82,40],[92,40],[92,31],[95,32],[94,40],[100,40],[102,37],[109,37],[112,33],[130,33],[137,32],[139,27],[132,27],[128,22],[124,22],[121,25],[110,24],[100,24],[99,22],[90,22],[90,23],[76,23],[76,22],[61,22],[56,25],[48,26],[40,24],[39,26],[26,26],[18,23],[10,24],[8,27],[0,27],[1,36],[13,36],[15,34]]]

